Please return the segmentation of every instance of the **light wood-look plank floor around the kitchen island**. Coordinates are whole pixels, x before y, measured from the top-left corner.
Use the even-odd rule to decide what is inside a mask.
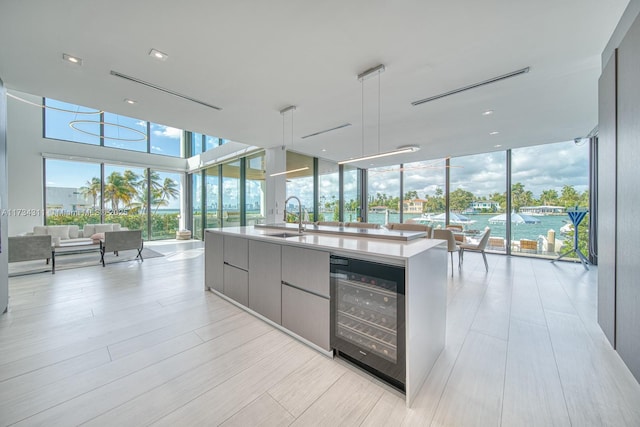
[[[487,273],[467,254],[446,348],[407,409],[204,292],[201,242],[149,246],[165,256],[10,279],[0,425],[640,426],[640,385],[597,325],[596,268],[489,255]]]

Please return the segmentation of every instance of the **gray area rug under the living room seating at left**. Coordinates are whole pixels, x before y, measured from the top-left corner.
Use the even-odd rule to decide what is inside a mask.
[[[107,266],[118,262],[131,262],[135,260],[137,254],[137,250],[120,251],[118,256],[113,253],[107,253],[104,255],[104,261]],[[142,249],[142,258],[145,260],[162,256],[164,255],[160,252],[154,251],[153,249]],[[97,266],[102,267],[99,251],[56,256],[56,271]],[[44,272],[51,273],[51,265],[45,264],[44,260],[12,262],[9,264],[9,277]]]

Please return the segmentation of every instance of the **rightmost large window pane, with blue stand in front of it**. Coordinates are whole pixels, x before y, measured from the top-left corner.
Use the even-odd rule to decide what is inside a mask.
[[[511,150],[512,253],[555,257],[573,247],[568,209],[589,206],[589,146],[574,141]],[[579,248],[588,256],[588,221]],[[575,258],[575,254],[570,257]]]

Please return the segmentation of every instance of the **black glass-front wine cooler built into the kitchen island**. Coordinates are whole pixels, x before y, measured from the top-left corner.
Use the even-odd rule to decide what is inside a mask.
[[[404,268],[331,256],[331,345],[405,391]]]

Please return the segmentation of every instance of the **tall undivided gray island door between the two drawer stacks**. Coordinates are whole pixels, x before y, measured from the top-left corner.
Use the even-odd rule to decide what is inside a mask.
[[[281,324],[281,246],[249,241],[249,308]]]

